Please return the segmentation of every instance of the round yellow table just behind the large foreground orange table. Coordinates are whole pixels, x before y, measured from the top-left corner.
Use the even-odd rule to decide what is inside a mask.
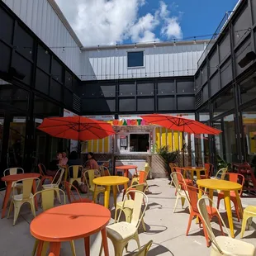
[[[95,184],[95,191],[97,190],[97,186],[105,187],[104,206],[108,208],[111,186],[113,187],[114,203],[116,206],[117,186],[125,185],[125,189],[127,189],[127,184],[129,183],[129,178],[122,177],[122,176],[104,176],[104,177],[94,178],[92,183]],[[93,201],[96,201],[96,193],[95,192],[93,194]]]

